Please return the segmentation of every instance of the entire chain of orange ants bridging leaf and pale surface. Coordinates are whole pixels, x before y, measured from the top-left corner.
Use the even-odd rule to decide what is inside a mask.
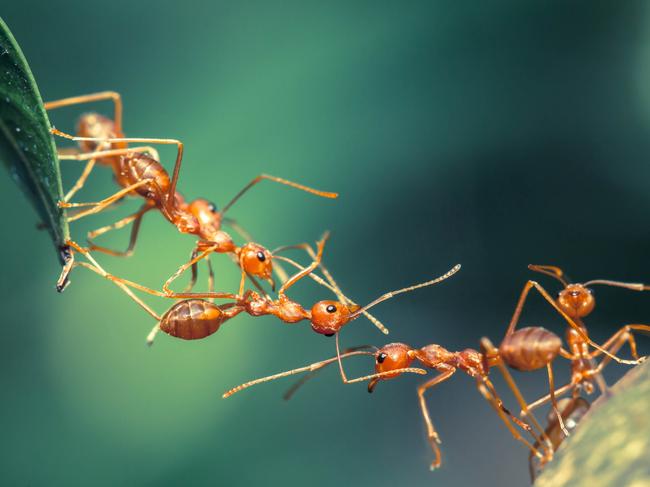
[[[53,133],[61,137],[79,142],[80,152],[68,153],[62,151],[60,159],[88,161],[86,166],[65,195],[60,206],[64,208],[87,208],[68,217],[70,222],[99,213],[110,207],[125,196],[136,196],[144,199],[142,207],[134,214],[123,218],[112,225],[101,227],[88,234],[88,247],[83,247],[74,241],[68,242],[64,249],[66,264],[57,282],[57,289],[62,291],[69,283],[69,274],[74,267],[84,267],[110,280],[140,305],[156,320],[156,325],[147,337],[149,344],[153,343],[159,331],[181,338],[201,339],[215,333],[226,321],[240,313],[250,316],[273,315],[284,323],[298,323],[303,320],[310,322],[312,329],[326,336],[335,336],[336,356],[316,362],[305,367],[274,374],[256,379],[227,391],[223,397],[229,397],[251,386],[275,380],[282,377],[306,372],[288,392],[285,398],[290,398],[299,387],[313,377],[324,367],[336,363],[344,383],[368,381],[368,391],[372,392],[380,381],[393,379],[404,373],[424,375],[425,369],[437,372],[437,375],[418,387],[418,399],[425,421],[427,436],[434,459],[431,468],[441,464],[440,438],[433,426],[425,401],[425,393],[434,386],[449,379],[456,371],[462,371],[476,380],[479,393],[494,408],[496,414],[504,422],[512,436],[523,443],[530,452],[531,476],[534,477],[539,469],[552,459],[554,451],[562,440],[570,434],[579,419],[589,408],[589,402],[581,396],[582,392],[591,394],[597,387],[602,394],[607,394],[607,385],[602,377],[603,368],[615,361],[622,364],[637,364],[645,357],[639,357],[634,338],[635,332],[650,332],[650,326],[629,324],[621,327],[608,340],[598,344],[591,340],[583,319],[590,314],[595,306],[595,298],[591,286],[607,285],[621,287],[634,291],[646,291],[650,286],[638,283],[625,283],[610,280],[592,280],[585,283],[570,283],[561,269],[554,266],[531,265],[533,271],[550,276],[559,281],[563,288],[556,299],[536,281],[528,281],[521,293],[515,312],[507,328],[506,334],[498,347],[489,339],[483,338],[480,350],[466,349],[451,352],[440,345],[431,344],[421,348],[412,348],[404,343],[391,343],[382,348],[362,346],[340,350],[339,332],[341,328],[361,315],[365,315],[383,333],[388,333],[386,327],[368,310],[373,306],[390,299],[398,294],[414,291],[431,286],[451,277],[459,269],[454,266],[450,271],[430,281],[409,286],[383,294],[366,306],[359,306],[343,294],[338,284],[322,263],[322,254],[328,235],[325,234],[317,242],[316,250],[311,245],[302,243],[281,247],[271,252],[265,247],[252,242],[252,238],[236,221],[225,217],[226,211],[251,187],[262,180],[270,180],[302,191],[325,198],[336,198],[336,193],[309,188],[274,176],[260,175],[246,185],[221,211],[208,200],[199,198],[191,202],[177,192],[177,181],[183,156],[183,144],[175,139],[126,138],[122,132],[122,102],[115,92],[103,92],[92,95],[67,98],[46,103],[48,110],[101,100],[112,100],[114,103],[114,118],[90,113],[81,117],[78,136],[72,136],[53,129]],[[160,164],[158,152],[150,145],[129,147],[128,144],[171,144],[177,147],[177,157],[172,176],[170,177]],[[113,169],[115,180],[121,190],[115,194],[92,203],[70,203],[76,192],[81,189],[96,164],[109,166]],[[181,233],[195,235],[198,240],[192,251],[190,260],[165,281],[162,290],[154,290],[111,275],[91,255],[98,251],[113,256],[130,256],[133,254],[138,232],[143,216],[150,211],[159,211],[162,216],[173,224]],[[240,236],[248,242],[242,246],[235,245],[233,239],[222,229],[222,223],[229,224]],[[125,251],[116,251],[98,246],[93,239],[109,231],[120,229],[132,224],[129,245]],[[300,249],[311,259],[307,266],[279,255],[289,249]],[[83,255],[87,262],[74,259],[74,255]],[[209,255],[221,253],[230,255],[241,269],[241,279],[237,293],[215,292],[214,273],[210,265]],[[191,292],[197,281],[197,264],[205,260],[208,266],[208,292]],[[296,269],[295,274],[288,276],[284,269],[274,261],[282,261]],[[183,292],[171,290],[171,283],[185,271],[191,269],[191,279]],[[316,274],[319,269],[324,277]],[[273,299],[264,291],[256,278],[262,279],[275,291],[273,274],[282,282]],[[290,299],[286,292],[301,279],[309,277],[321,286],[327,288],[337,297],[337,300],[324,300],[314,304],[311,309],[305,309],[296,301]],[[249,279],[256,291],[245,290],[246,279]],[[159,297],[179,299],[162,316],[156,314],[133,291],[136,289]],[[517,328],[520,315],[530,291],[537,291],[551,307],[562,316],[567,323],[565,339],[542,327]],[[227,300],[216,305],[214,299]],[[632,360],[621,359],[617,353],[628,344]],[[374,373],[348,379],[343,366],[343,360],[353,356],[367,355],[374,358]],[[555,385],[553,363],[558,358],[569,361],[571,378],[567,384],[560,387]],[[420,367],[412,367],[413,363]],[[512,414],[503,404],[489,374],[496,367],[521,409],[518,416]],[[509,368],[520,371],[545,369],[549,382],[549,392],[533,402],[526,402],[519,391]],[[563,395],[567,398],[560,398]],[[551,412],[547,427],[542,428],[535,418],[533,410],[550,403]],[[522,433],[524,433],[522,435]]]

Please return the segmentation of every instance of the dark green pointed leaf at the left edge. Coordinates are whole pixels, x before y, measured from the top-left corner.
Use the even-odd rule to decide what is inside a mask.
[[[70,237],[63,199],[61,172],[43,100],[18,43],[0,18],[0,159],[23,189],[62,263]]]

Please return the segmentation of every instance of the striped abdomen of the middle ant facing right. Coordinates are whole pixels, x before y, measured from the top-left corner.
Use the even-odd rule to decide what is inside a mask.
[[[160,329],[183,340],[199,340],[215,333],[232,318],[217,305],[203,299],[186,299],[172,306],[160,320]]]

